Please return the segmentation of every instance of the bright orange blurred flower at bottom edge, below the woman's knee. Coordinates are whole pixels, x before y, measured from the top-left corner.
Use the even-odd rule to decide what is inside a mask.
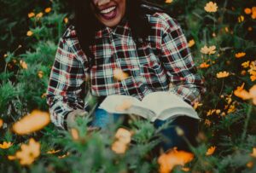
[[[163,153],[158,159],[160,164],[160,173],[169,173],[176,165],[184,165],[194,159],[193,153],[184,151],[177,151],[177,148],[173,148],[168,153]]]

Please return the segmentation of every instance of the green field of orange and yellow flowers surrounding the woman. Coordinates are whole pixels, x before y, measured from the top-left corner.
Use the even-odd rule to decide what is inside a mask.
[[[108,131],[87,129],[90,118],[70,131],[50,123],[45,93],[71,2],[0,0],[0,172],[256,172],[254,0],[151,0],[182,26],[207,89],[194,105],[199,145],[168,153],[154,151],[160,129],[132,116]]]

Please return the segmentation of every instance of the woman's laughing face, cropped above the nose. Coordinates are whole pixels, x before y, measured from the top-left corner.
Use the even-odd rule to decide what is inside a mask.
[[[113,27],[119,24],[125,15],[126,0],[92,0],[91,8],[96,19],[103,25]]]

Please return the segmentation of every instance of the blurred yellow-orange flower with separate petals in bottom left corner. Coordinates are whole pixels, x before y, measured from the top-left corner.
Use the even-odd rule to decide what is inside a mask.
[[[40,155],[40,143],[30,138],[28,145],[22,144],[21,150],[15,153],[15,159],[20,159],[20,164],[29,165]]]

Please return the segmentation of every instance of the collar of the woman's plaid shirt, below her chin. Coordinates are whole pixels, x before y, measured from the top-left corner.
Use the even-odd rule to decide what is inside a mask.
[[[131,28],[126,17],[124,17],[119,24],[113,28],[102,26],[96,31],[96,38],[110,37],[111,34],[119,37],[131,37]]]

